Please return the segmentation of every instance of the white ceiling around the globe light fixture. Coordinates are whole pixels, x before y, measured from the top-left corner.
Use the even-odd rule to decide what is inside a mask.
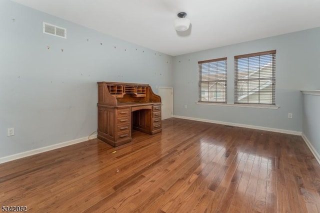
[[[173,56],[320,26],[320,0],[13,1]]]

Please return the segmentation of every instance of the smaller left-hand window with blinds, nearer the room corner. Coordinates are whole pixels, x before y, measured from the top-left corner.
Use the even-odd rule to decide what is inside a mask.
[[[226,57],[198,61],[198,101],[226,103]]]

